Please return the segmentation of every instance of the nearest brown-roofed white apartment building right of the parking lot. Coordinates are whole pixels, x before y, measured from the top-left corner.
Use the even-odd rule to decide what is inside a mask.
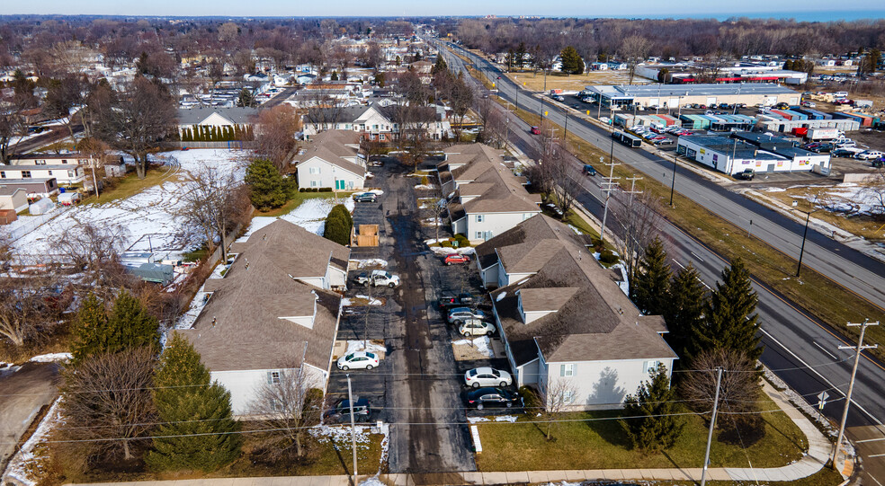
[[[590,241],[534,216],[477,247],[515,384],[563,390],[572,410],[621,408],[658,364],[677,358],[663,317],[642,315]],[[563,386],[560,386],[563,385]]]

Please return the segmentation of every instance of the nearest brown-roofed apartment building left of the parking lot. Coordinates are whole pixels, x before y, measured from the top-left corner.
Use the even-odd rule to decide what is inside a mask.
[[[341,308],[332,289],[344,287],[350,250],[278,219],[231,252],[224,278],[206,280],[209,301],[192,328],[175,332],[228,389],[238,416],[285,370],[302,370],[325,392]]]

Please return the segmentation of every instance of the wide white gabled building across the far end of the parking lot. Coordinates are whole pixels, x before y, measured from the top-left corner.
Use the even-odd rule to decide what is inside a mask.
[[[405,130],[416,129],[434,140],[451,137],[451,125],[444,111],[433,107],[415,108],[410,113],[414,121],[404,128],[399,125],[398,110],[405,109],[398,104],[383,106],[380,102],[368,106],[311,108],[303,117],[304,135],[309,138],[326,130],[352,130],[362,138],[388,142],[396,140]]]

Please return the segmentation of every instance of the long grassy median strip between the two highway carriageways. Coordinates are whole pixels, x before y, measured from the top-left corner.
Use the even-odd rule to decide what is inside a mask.
[[[501,102],[501,104],[507,103]],[[539,115],[522,109],[517,110],[517,115],[532,125],[538,125],[540,122]],[[545,119],[544,122],[550,123],[550,119]],[[567,142],[571,152],[582,161],[598,163],[600,156],[608,160],[607,151],[600,150],[573,133],[568,134]],[[603,169],[603,172],[607,172],[607,169]],[[615,166],[613,175],[621,177],[623,181],[627,177],[645,174],[621,164]],[[678,179],[677,175],[676,185],[679,185]],[[859,330],[848,328],[845,323],[862,323],[871,315],[881,314],[882,310],[878,306],[809,267],[804,267],[802,277],[796,278],[796,255],[780,252],[755,236],[746,234],[746,229],[732,225],[678,191],[673,199],[674,206],[670,208],[666,204],[670,198],[669,186],[650,177],[638,181],[636,186],[637,190],[651,192],[662,201],[661,214],[671,223],[692,234],[712,252],[720,254],[729,261],[737,257],[743,258],[755,280],[786,296],[809,314],[828,323],[848,340],[856,341]],[[871,352],[879,358],[885,358],[885,328],[881,329],[881,326],[870,328],[866,333],[866,339],[871,340],[871,344],[881,343],[883,346],[872,349]]]

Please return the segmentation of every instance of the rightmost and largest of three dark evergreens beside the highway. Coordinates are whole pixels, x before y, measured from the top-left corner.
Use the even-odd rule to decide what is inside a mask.
[[[745,353],[747,358],[759,358],[759,316],[754,314],[757,301],[750,273],[744,261],[737,258],[730,268],[722,270],[722,281],[716,283],[704,311],[706,330],[697,336],[702,349],[732,349]]]

